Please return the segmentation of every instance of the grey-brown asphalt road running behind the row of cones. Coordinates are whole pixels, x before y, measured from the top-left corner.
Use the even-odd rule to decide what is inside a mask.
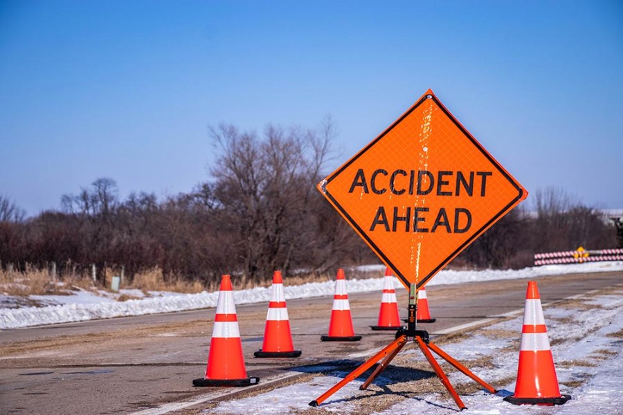
[[[543,303],[623,283],[623,273],[540,277]],[[462,324],[523,310],[525,279],[471,282],[426,289],[433,335]],[[287,282],[286,282],[287,284]],[[401,315],[407,295],[397,290]],[[393,332],[370,330],[377,322],[380,293],[350,295],[361,342],[320,342],[326,334],[331,297],[288,301],[291,330],[300,358],[259,359],[267,303],[237,306],[246,369],[260,384],[297,367],[363,356],[393,339]],[[0,413],[126,414],[204,396],[194,378],[206,371],[214,309],[122,317],[0,331]],[[518,335],[520,335],[518,333]],[[459,358],[460,356],[455,356]],[[240,390],[240,389],[237,389]],[[310,396],[310,400],[315,396]]]

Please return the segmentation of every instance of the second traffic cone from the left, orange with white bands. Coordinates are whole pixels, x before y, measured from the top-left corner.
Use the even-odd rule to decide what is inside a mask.
[[[288,309],[283,294],[281,271],[273,273],[273,293],[269,302],[264,329],[262,350],[253,353],[256,358],[298,358],[300,350],[294,350]]]

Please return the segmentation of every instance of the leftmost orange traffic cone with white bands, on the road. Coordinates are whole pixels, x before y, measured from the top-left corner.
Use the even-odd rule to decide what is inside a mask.
[[[223,275],[214,316],[206,377],[193,380],[192,385],[249,386],[258,383],[259,380],[246,376],[231,279],[229,275]]]

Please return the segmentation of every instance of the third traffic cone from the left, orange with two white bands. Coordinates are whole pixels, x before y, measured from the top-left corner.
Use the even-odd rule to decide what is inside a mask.
[[[350,304],[348,304],[348,293],[346,292],[346,277],[342,268],[338,269],[335,279],[329,335],[321,335],[320,340],[325,342],[356,342],[361,340],[361,335],[354,335],[352,328]]]

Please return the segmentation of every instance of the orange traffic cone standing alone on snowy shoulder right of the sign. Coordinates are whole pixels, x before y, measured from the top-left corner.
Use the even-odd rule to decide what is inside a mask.
[[[515,393],[504,400],[515,405],[562,405],[570,398],[558,389],[539,287],[530,281],[525,295]]]

